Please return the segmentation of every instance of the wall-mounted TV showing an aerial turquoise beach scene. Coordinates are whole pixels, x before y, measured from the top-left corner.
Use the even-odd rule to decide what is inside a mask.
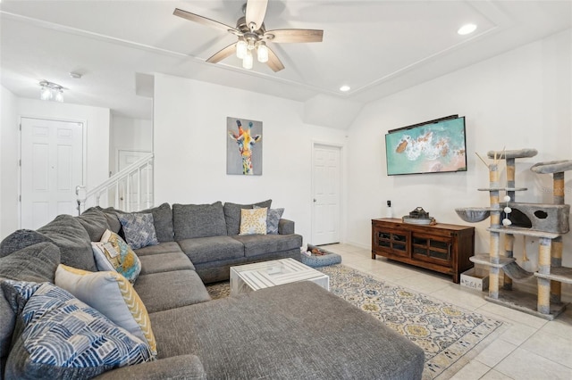
[[[385,135],[387,175],[467,171],[465,117],[451,115]]]

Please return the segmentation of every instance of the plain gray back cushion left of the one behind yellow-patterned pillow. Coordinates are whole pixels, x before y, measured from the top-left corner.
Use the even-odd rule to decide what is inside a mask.
[[[226,235],[223,203],[172,205],[175,240]]]

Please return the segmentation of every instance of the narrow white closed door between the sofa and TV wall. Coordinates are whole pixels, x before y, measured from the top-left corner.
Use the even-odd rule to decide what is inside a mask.
[[[312,159],[313,205],[311,244],[340,242],[341,148],[314,145]]]

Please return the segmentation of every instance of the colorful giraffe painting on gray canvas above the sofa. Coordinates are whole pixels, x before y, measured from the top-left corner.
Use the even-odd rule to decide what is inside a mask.
[[[262,175],[262,121],[226,118],[226,174]]]

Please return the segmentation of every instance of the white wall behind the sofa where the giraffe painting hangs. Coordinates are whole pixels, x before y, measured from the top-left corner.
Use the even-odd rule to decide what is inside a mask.
[[[157,74],[156,204],[272,198],[273,207],[284,207],[284,218],[294,220],[309,242],[312,142],[343,145],[346,138],[344,131],[304,124],[303,108],[269,95]],[[226,175],[227,116],[263,122],[262,176]]]

